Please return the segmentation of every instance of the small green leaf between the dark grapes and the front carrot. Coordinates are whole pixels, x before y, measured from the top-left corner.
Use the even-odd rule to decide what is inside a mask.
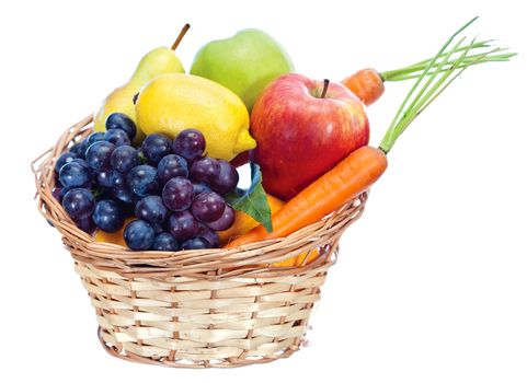
[[[271,207],[262,186],[262,172],[255,163],[251,162],[251,186],[249,189],[239,188],[228,194],[225,199],[236,210],[241,210],[262,223],[268,233],[273,231]]]

